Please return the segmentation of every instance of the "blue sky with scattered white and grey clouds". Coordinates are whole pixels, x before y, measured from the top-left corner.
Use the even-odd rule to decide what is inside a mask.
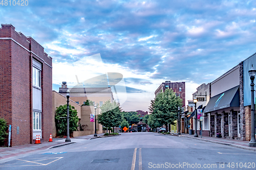
[[[124,111],[148,111],[165,81],[185,81],[187,103],[198,86],[256,52],[255,1],[8,3],[0,5],[1,23],[52,57],[53,90],[117,72]]]

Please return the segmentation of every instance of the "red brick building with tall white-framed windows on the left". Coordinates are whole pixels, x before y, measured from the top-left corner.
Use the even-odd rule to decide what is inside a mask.
[[[0,117],[12,125],[11,146],[52,133],[52,58],[11,24],[0,29]]]

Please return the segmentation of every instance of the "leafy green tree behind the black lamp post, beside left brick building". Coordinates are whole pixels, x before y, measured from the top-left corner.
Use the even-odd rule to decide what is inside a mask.
[[[55,119],[57,122],[58,134],[67,134],[67,105],[61,105],[57,107],[55,111]],[[66,117],[66,118],[62,118]],[[69,105],[69,132],[77,130],[78,127],[78,116],[74,106]]]

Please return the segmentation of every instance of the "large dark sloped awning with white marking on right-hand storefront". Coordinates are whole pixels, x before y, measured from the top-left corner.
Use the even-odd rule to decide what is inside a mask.
[[[204,113],[220,110],[228,107],[239,107],[239,86],[224,91],[212,98],[204,109]]]

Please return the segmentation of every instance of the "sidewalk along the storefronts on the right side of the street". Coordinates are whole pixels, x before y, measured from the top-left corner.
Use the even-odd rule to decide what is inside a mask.
[[[182,136],[182,137],[188,137],[188,138],[193,138],[197,140],[204,140],[207,142],[212,142],[212,143],[218,143],[218,144],[224,144],[224,145],[229,145],[230,147],[235,147],[235,148],[241,148],[245,150],[250,150],[256,152],[255,147],[248,147],[249,141],[242,141],[242,140],[234,140],[234,139],[226,139],[226,138],[218,138],[218,137],[209,137],[209,136],[202,136],[198,135],[198,137],[194,137],[194,135],[189,135],[189,134],[181,134],[178,135],[177,133],[174,133],[174,135],[177,136]]]

